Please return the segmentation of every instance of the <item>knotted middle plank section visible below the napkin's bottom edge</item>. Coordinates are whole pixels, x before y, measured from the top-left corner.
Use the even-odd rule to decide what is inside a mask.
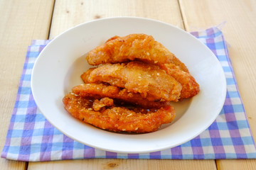
[[[36,162],[29,164],[28,170],[48,169],[216,169],[211,160],[148,160],[148,159],[81,159],[58,162]]]

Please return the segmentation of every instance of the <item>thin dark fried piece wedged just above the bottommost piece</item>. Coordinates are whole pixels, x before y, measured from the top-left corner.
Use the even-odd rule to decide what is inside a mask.
[[[142,108],[161,108],[169,103],[164,101],[148,101],[142,98],[140,94],[134,94],[127,89],[121,89],[117,86],[108,86],[107,84],[80,84],[73,87],[72,92],[79,96],[92,98],[114,98],[119,103],[128,103]]]

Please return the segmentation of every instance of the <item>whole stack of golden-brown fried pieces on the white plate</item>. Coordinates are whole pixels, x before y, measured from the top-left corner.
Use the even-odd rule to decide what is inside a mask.
[[[65,109],[85,123],[114,132],[153,132],[171,123],[170,101],[198,94],[199,85],[174,54],[151,35],[115,36],[88,52],[97,67],[63,98]]]

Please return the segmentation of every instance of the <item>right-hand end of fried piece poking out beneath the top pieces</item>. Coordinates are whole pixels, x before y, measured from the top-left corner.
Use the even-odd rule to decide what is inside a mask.
[[[199,93],[199,84],[188,72],[183,72],[181,69],[176,69],[173,64],[164,64],[162,69],[164,69],[167,74],[174,77],[174,79],[181,84],[182,90],[180,100],[183,98],[191,98]]]

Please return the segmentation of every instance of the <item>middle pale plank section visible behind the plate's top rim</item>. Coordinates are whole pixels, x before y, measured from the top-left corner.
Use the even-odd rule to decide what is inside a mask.
[[[161,11],[161,13],[159,13]],[[177,1],[56,1],[50,39],[68,28],[97,18],[137,16],[153,18],[183,28]]]

